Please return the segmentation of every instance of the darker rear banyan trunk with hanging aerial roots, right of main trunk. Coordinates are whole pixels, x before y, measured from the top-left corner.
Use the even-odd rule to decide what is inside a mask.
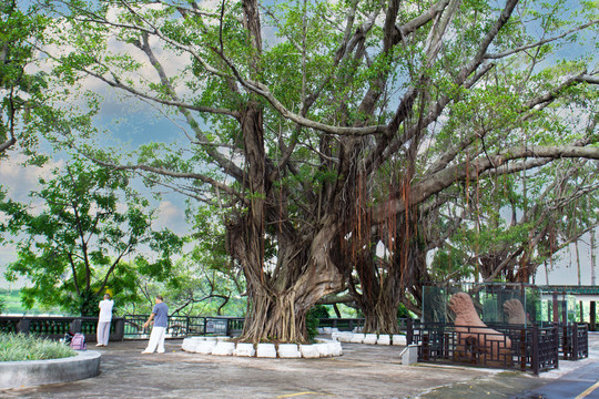
[[[354,212],[344,219],[351,238],[343,250],[355,266],[357,282],[348,280],[351,294],[364,314],[364,332],[397,334],[397,309],[406,289],[426,269],[425,245],[418,232],[417,207],[402,215],[370,215],[366,184],[356,184]],[[404,198],[407,191],[399,193]],[[397,195],[397,193],[390,194]]]

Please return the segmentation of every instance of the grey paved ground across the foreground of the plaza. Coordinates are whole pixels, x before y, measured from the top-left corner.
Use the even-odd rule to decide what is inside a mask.
[[[181,341],[169,341],[164,355],[141,355],[145,344],[100,348],[99,377],[3,390],[0,398],[544,398],[531,390],[599,364],[599,334],[591,336],[589,359],[562,361],[560,370],[540,378],[464,367],[402,366],[399,347],[343,344],[344,355],[337,358],[257,359],[187,354],[181,350]],[[577,386],[570,398],[591,386]],[[586,398],[599,398],[598,393],[599,389]]]

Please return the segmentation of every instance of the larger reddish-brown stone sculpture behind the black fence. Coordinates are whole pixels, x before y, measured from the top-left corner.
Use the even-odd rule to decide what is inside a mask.
[[[511,362],[511,340],[504,334],[487,327],[466,293],[457,293],[449,299],[449,309],[456,314],[454,325],[457,331],[455,356],[483,360],[489,366],[501,366]]]

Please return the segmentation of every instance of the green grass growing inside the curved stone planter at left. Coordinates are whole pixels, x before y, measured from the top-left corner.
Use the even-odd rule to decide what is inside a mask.
[[[35,336],[0,334],[0,361],[48,360],[75,356],[68,346]]]

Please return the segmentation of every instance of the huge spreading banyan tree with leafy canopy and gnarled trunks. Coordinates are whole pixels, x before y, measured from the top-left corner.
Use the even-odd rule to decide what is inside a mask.
[[[474,215],[497,176],[542,191],[556,162],[599,158],[590,2],[49,6],[53,84],[100,80],[176,115],[187,142],[173,129],[126,157],[60,140],[220,209],[247,340],[305,340],[306,311],[345,289],[393,328],[444,214]]]

